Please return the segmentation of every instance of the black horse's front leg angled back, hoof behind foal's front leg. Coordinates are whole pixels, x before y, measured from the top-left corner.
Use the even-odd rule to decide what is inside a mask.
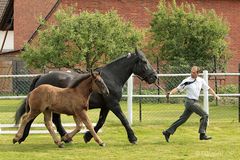
[[[100,128],[102,128],[103,124],[105,123],[106,121],[106,118],[107,118],[107,115],[109,113],[109,109],[107,107],[102,107],[101,108],[101,111],[100,111],[100,114],[99,114],[99,119],[98,119],[98,122],[96,124],[96,126],[94,127],[94,130],[95,132],[97,133],[99,131]],[[91,139],[92,139],[92,134],[90,133],[90,131],[87,131],[85,134],[84,134],[84,141],[85,143],[88,143]]]

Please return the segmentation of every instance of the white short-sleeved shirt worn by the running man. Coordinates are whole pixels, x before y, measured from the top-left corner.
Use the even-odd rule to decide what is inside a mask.
[[[207,85],[206,81],[201,77],[197,77],[196,81],[193,82],[195,79],[190,77],[185,78],[178,86],[177,89],[182,92],[186,90],[187,98],[198,100],[200,96],[201,89],[209,89],[210,87]],[[185,82],[193,82],[189,85],[183,85]]]

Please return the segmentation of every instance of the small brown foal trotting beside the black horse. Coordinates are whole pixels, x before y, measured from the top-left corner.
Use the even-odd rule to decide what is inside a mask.
[[[94,137],[94,140],[100,146],[105,146],[104,142],[94,131],[87,115],[88,101],[93,91],[100,94],[109,94],[109,90],[99,73],[91,72],[91,74],[77,79],[68,88],[59,88],[48,84],[37,87],[28,95],[27,103],[29,104],[29,108],[27,108],[27,112],[22,116],[21,125],[13,138],[13,143],[21,143],[19,140],[23,136],[26,124],[40,113],[43,113],[45,125],[55,144],[60,148],[64,147],[61,140],[57,137],[51,122],[52,112],[55,112],[73,115],[76,128],[71,133],[65,135],[67,138],[72,138],[78,133],[82,128],[82,123],[84,123]]]

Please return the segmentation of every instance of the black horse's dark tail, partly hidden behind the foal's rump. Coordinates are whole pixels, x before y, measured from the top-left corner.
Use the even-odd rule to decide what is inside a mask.
[[[32,81],[32,84],[30,85],[29,92],[31,92],[35,88],[35,84],[38,81],[38,79],[41,77],[41,75],[38,75],[35,77]],[[21,106],[17,109],[15,113],[15,124],[19,124],[19,121],[22,117],[22,115],[29,111],[29,105],[28,105],[28,97],[23,100],[23,103]]]

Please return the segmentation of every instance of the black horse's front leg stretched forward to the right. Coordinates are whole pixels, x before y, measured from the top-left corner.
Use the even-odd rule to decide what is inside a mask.
[[[129,122],[126,118],[126,116],[123,114],[122,109],[119,105],[119,103],[110,106],[110,110],[120,119],[122,122],[123,126],[125,127],[127,134],[128,134],[128,140],[132,144],[137,144],[137,137],[134,135],[134,132],[129,125]]]

